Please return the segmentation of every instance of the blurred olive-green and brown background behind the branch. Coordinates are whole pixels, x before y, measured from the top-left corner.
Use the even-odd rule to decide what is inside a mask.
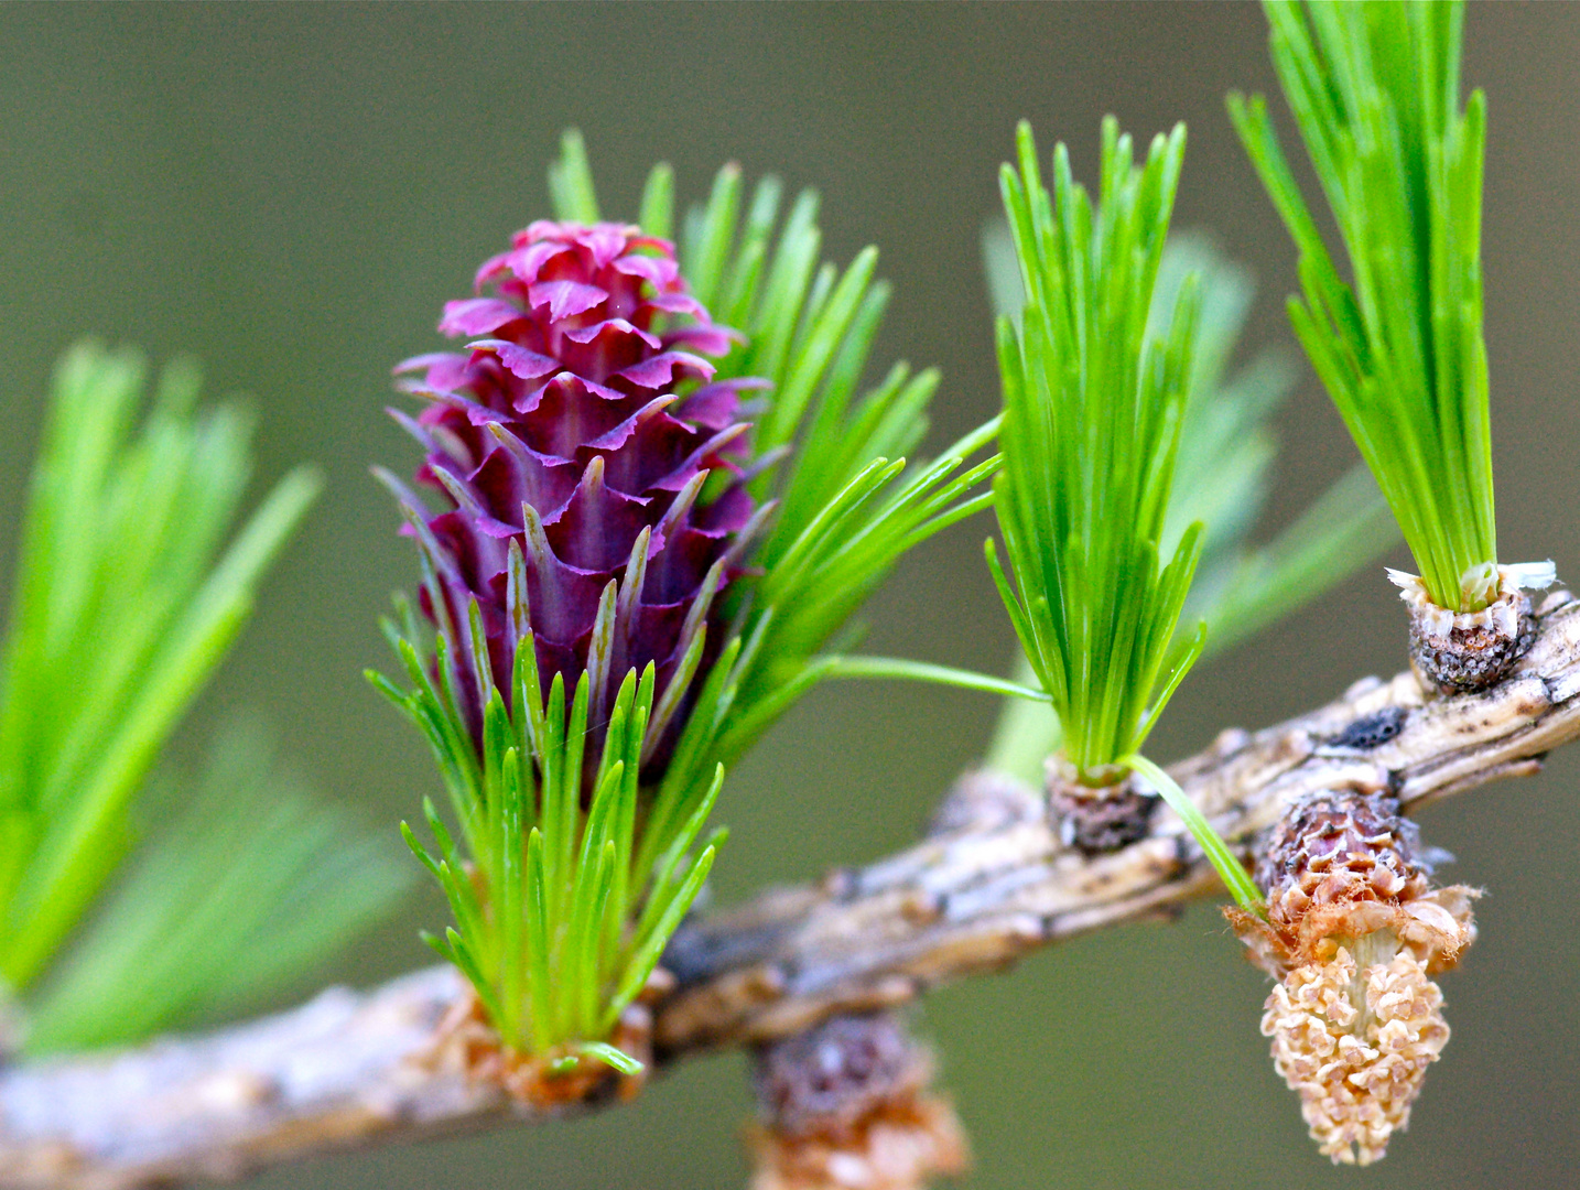
[[[1580,8],[1477,5],[1485,267],[1501,555],[1580,577]],[[434,785],[417,736],[367,687],[374,631],[412,553],[368,465],[409,469],[381,414],[389,367],[436,346],[444,299],[547,210],[544,171],[585,130],[605,209],[632,213],[672,161],[700,198],[738,160],[823,194],[826,250],[883,251],[878,356],[939,363],[932,444],[997,400],[978,232],[1018,117],[1095,171],[1098,120],[1190,125],[1177,226],[1210,228],[1262,283],[1250,345],[1289,341],[1283,229],[1223,112],[1275,90],[1251,5],[1046,6],[55,6],[0,8],[0,548],[57,354],[81,335],[194,352],[253,394],[262,476],[310,458],[327,495],[251,631],[183,730],[261,710],[332,796],[387,827]],[[1278,109],[1281,126],[1289,123]],[[1280,416],[1269,528],[1352,460],[1307,375]],[[1002,668],[1011,637],[981,564],[986,523],[908,558],[871,605],[874,650]],[[1395,564],[1403,555],[1394,556]],[[1202,668],[1155,752],[1258,727],[1403,662],[1403,613],[1371,569]],[[997,708],[931,687],[818,691],[733,773],[727,902],[910,841],[984,746]],[[1544,776],[1431,809],[1428,839],[1488,890],[1449,977],[1455,1040],[1411,1132],[1370,1173],[1330,1171],[1256,1034],[1264,983],[1210,906],[934,994],[921,1027],[975,1138],[973,1187],[1572,1187],[1580,1179],[1580,749]],[[427,961],[411,913],[329,972],[370,983]],[[300,991],[308,991],[303,988]],[[736,1187],[744,1060],[695,1060],[634,1108],[270,1173],[256,1187]]]

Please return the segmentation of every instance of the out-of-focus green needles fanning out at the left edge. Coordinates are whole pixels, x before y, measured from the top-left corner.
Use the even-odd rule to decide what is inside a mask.
[[[0,1000],[32,1054],[256,1004],[406,887],[251,735],[196,784],[156,771],[319,487],[239,518],[254,417],[199,389],[93,343],[55,373],[0,665]]]

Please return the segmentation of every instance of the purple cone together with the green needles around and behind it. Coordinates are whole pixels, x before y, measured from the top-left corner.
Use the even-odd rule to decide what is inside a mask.
[[[408,616],[390,637],[409,687],[374,680],[450,793],[455,833],[433,806],[436,849],[408,831],[455,913],[433,945],[553,1079],[637,1068],[610,1041],[713,863],[724,763],[837,672],[830,637],[986,504],[970,488],[997,460],[965,466],[992,425],[929,465],[896,457],[937,375],[899,363],[860,392],[888,289],[871,248],[818,262],[815,196],[776,231],[768,179],[743,220],[727,166],[676,251],[668,168],[640,226],[605,221],[574,133],[550,193],[558,220],[447,305],[465,351],[400,368],[422,373],[427,408],[397,417],[442,506],[386,482],[433,645]]]

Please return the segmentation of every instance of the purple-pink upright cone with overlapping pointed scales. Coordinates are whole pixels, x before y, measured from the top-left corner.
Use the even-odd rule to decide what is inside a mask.
[[[717,657],[720,596],[762,523],[743,482],[750,442],[739,394],[765,382],[714,379],[706,357],[739,335],[690,296],[673,247],[635,226],[534,223],[483,262],[476,291],[439,319],[442,333],[471,340],[465,354],[395,368],[422,375],[403,387],[427,408],[392,414],[427,452],[419,482],[447,506],[430,515],[403,496],[408,531],[430,558],[422,610],[447,637],[460,710],[480,743],[469,605],[482,613],[488,676],[510,705],[521,640],[509,613],[514,542],[545,697],[556,675],[569,695],[591,657],[589,743],[624,675],[656,667],[653,779],[689,710],[665,692],[698,632],[690,691]],[[600,604],[613,627],[607,664],[592,648]]]

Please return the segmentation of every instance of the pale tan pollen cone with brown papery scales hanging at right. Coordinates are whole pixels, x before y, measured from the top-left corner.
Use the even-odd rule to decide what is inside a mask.
[[[1266,838],[1256,869],[1266,920],[1228,910],[1253,961],[1278,980],[1261,1030],[1335,1163],[1384,1155],[1449,1038],[1430,977],[1474,940],[1476,893],[1433,888],[1430,877],[1397,800],[1318,790]]]

